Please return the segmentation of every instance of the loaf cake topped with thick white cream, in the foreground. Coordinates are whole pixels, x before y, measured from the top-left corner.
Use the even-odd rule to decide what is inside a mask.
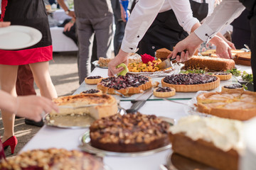
[[[217,169],[238,169],[245,149],[242,130],[239,120],[198,115],[181,118],[169,128],[174,152]]]

